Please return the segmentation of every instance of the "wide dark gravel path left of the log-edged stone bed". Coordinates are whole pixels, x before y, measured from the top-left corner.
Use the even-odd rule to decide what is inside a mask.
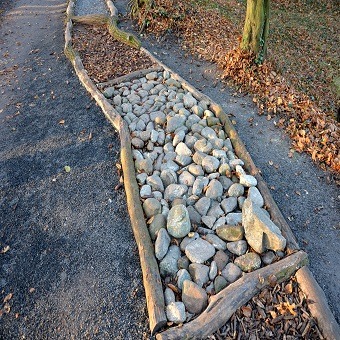
[[[118,135],[64,57],[65,3],[0,4],[0,338],[141,339]]]

